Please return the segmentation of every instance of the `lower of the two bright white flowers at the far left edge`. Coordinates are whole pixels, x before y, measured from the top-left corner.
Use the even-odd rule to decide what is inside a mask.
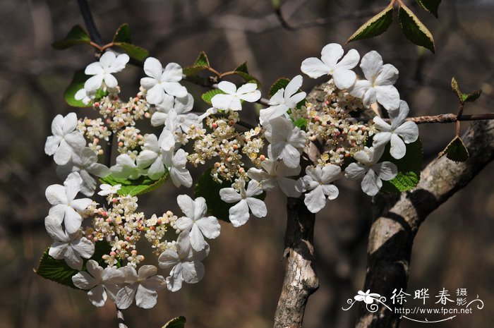
[[[64,186],[48,186],[45,193],[48,202],[53,205],[50,209],[50,215],[56,218],[59,224],[64,221],[68,233],[78,231],[83,221],[83,218],[76,211],[82,211],[92,202],[89,198],[74,199],[80,191],[82,183],[83,179],[80,178],[79,174],[73,172],[67,176]]]

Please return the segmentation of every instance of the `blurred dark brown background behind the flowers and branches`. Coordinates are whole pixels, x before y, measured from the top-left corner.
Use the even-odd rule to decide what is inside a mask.
[[[406,1],[412,3],[414,1]],[[105,41],[121,23],[129,23],[133,42],[167,63],[193,63],[202,50],[212,66],[229,71],[248,61],[263,82],[263,95],[279,77],[300,73],[300,63],[320,55],[330,42],[344,44],[387,1],[286,0],[282,11],[290,23],[331,18],[334,23],[284,30],[267,0],[109,0],[90,1]],[[397,66],[397,87],[411,115],[456,113],[450,91],[456,76],[462,90],[481,88],[483,95],[465,114],[493,110],[494,1],[442,1],[440,18],[411,4],[433,33],[436,54],[408,42],[395,21],[384,35],[354,42],[361,55],[378,50],[385,63]],[[89,47],[56,51],[50,44],[83,25],[75,0],[0,1],[0,327],[116,327],[111,303],[93,307],[85,292],[44,280],[33,273],[51,243],[43,219],[49,209],[44,190],[59,183],[55,164],[44,154],[44,142],[56,114],[73,111],[63,91],[74,71],[93,61]],[[138,68],[119,75],[123,95],[137,92]],[[304,90],[323,80],[306,78]],[[201,87],[186,85],[195,95]],[[205,108],[197,98],[197,110]],[[85,109],[76,109],[88,115]],[[468,124],[464,125],[465,128]],[[430,162],[454,136],[454,125],[420,126],[425,161]],[[195,170],[198,177],[201,170]],[[488,327],[494,321],[494,166],[454,195],[421,226],[414,244],[408,292],[429,288],[431,298],[443,287],[452,296],[467,288],[483,310],[433,327]],[[353,327],[356,312],[343,311],[347,298],[363,286],[371,200],[358,183],[339,183],[340,196],[318,214],[315,229],[316,270],[320,289],[309,300],[307,328]],[[179,212],[171,183],[140,197],[146,214]],[[177,293],[162,291],[157,306],[125,311],[129,328],[161,327],[171,317],[187,317],[186,327],[272,327],[284,274],[284,198],[270,193],[269,214],[234,229],[222,222],[222,234],[211,241],[203,281]],[[152,258],[151,256],[148,258]],[[167,274],[167,272],[162,272]],[[435,300],[434,300],[435,301]],[[352,309],[354,310],[354,309]],[[402,327],[423,324],[402,322]]]

